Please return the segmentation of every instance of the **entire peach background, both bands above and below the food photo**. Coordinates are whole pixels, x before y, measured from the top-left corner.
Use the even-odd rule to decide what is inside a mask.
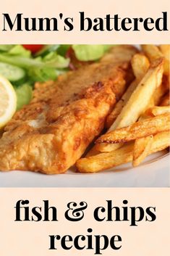
[[[161,12],[169,12],[169,0],[161,1],[66,1],[66,0],[6,0],[1,3],[0,44],[167,44],[168,32],[80,32],[78,12],[84,11],[90,17],[104,17],[117,14],[121,17],[160,17]],[[72,32],[2,32],[2,13],[14,17],[24,13],[25,17],[56,17],[59,12],[75,18]],[[122,249],[106,249],[104,256],[166,256],[169,255],[170,206],[169,189],[0,189],[0,255],[1,256],[90,256],[93,251],[48,250],[49,234],[93,234],[122,236]],[[41,206],[43,199],[58,208],[59,222],[30,223],[14,222],[14,205],[19,199],[29,199],[30,205]],[[127,199],[132,206],[156,206],[157,220],[153,223],[140,222],[138,227],[128,223],[97,223],[93,220],[93,210],[112,199],[115,205],[122,205]],[[64,211],[70,201],[88,202],[85,218],[78,223],[64,220]]]

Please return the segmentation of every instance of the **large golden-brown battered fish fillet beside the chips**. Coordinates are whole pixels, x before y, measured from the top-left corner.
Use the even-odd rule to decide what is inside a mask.
[[[101,133],[107,115],[132,80],[132,46],[115,46],[100,62],[36,84],[0,139],[0,170],[64,173]]]

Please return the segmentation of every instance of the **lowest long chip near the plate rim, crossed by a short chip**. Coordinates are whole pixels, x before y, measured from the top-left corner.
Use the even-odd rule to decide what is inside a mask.
[[[157,133],[153,136],[153,143],[147,155],[166,149],[170,145],[169,131]],[[77,160],[76,167],[80,173],[97,173],[100,170],[114,168],[115,166],[131,162],[133,159],[134,144],[125,144],[114,152],[101,153],[93,157]]]

